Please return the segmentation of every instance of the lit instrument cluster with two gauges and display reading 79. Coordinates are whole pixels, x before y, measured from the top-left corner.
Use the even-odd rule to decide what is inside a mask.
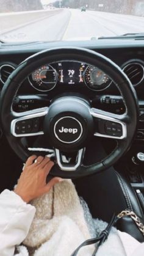
[[[112,80],[98,67],[80,62],[56,62],[45,64],[28,77],[32,87],[40,92],[48,92],[59,85],[84,85],[90,90],[104,90]]]

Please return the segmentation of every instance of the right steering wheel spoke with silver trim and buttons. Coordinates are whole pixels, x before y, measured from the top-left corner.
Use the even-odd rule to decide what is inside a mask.
[[[90,109],[95,118],[94,136],[123,140],[127,136],[126,114],[117,115],[99,109]]]

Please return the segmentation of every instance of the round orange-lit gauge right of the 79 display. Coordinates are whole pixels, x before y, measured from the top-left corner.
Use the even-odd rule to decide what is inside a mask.
[[[88,66],[84,74],[85,84],[92,90],[104,90],[111,84],[109,76],[97,67]]]

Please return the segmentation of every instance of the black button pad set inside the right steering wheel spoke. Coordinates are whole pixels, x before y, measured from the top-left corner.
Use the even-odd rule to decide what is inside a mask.
[[[110,136],[121,137],[123,135],[123,128],[120,123],[107,121],[105,123],[105,132]]]

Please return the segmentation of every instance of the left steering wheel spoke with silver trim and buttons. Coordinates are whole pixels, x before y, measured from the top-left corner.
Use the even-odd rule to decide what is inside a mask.
[[[43,135],[43,118],[48,108],[39,108],[21,113],[12,112],[10,133],[15,137]]]

